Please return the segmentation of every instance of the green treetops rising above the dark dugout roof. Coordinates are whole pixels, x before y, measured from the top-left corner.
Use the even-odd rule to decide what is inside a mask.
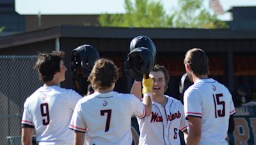
[[[226,28],[203,6],[204,0],[179,0],[177,10],[167,15],[161,1],[125,0],[125,13],[99,17],[102,27]]]

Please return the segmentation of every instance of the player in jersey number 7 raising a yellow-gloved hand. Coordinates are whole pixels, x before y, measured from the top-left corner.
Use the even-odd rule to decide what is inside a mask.
[[[108,59],[95,62],[88,78],[94,93],[77,102],[70,128],[75,130],[74,144],[132,144],[131,117],[150,115],[153,80],[143,79],[145,100],[114,92],[118,68]]]

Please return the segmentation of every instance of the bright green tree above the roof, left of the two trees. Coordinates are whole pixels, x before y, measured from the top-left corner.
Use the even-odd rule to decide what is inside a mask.
[[[168,15],[160,1],[125,0],[125,13],[99,17],[101,26],[108,27],[168,27]]]

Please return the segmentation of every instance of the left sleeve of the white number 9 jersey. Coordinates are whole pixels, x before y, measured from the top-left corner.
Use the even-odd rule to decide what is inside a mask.
[[[24,103],[24,111],[23,111],[23,116],[22,116],[22,121],[21,121],[21,127],[28,127],[28,128],[35,128],[32,122],[32,119],[29,115],[29,100],[27,99],[26,102]]]

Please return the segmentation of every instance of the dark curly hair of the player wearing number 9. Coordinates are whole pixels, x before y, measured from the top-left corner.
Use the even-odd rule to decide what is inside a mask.
[[[47,83],[53,79],[56,72],[60,71],[60,61],[63,59],[65,53],[39,53],[35,62],[35,70],[39,74],[39,80]]]

